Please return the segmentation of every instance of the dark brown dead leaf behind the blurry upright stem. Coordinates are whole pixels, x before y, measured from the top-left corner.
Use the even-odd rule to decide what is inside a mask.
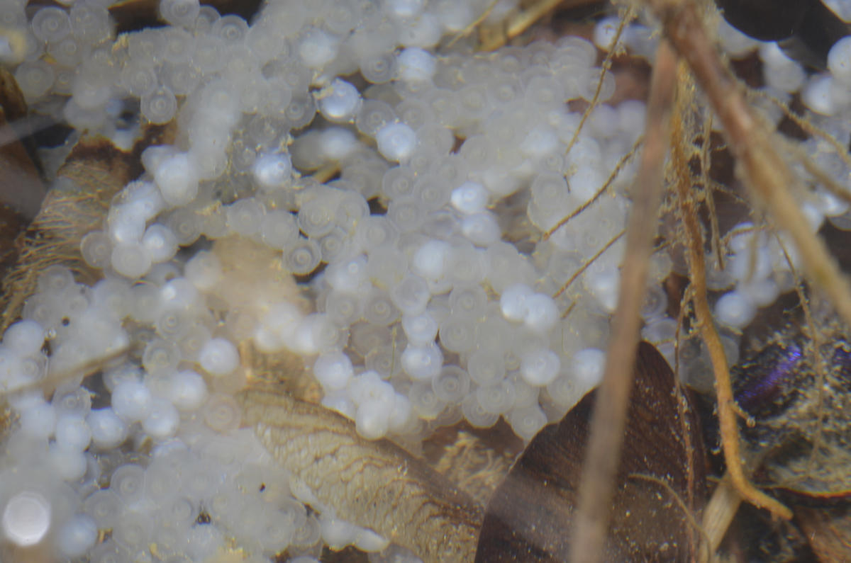
[[[586,395],[534,437],[488,503],[476,560],[565,561],[591,410]],[[613,519],[603,560],[680,561],[697,556],[693,515],[705,496],[696,414],[665,359],[638,347]]]

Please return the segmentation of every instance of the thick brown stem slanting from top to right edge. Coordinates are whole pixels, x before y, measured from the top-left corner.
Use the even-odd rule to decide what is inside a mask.
[[[738,83],[722,65],[695,3],[679,0],[646,0],[646,3],[659,16],[666,37],[688,61],[721,119],[728,148],[745,184],[768,207],[777,225],[792,236],[810,282],[825,291],[842,320],[851,325],[851,285],[792,197],[795,176],[774,150],[766,128],[753,116]]]

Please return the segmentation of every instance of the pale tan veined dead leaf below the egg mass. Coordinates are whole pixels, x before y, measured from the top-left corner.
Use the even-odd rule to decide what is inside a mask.
[[[238,395],[243,422],[319,503],[429,561],[469,561],[482,509],[388,440],[368,441],[351,420],[277,390]]]

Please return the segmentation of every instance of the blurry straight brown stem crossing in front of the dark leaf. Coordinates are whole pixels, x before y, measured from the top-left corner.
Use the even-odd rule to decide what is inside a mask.
[[[600,560],[608,529],[614,479],[624,439],[626,407],[632,389],[633,367],[641,309],[656,216],[664,181],[671,105],[677,69],[676,56],[666,41],[656,54],[648,100],[640,168],[633,185],[633,205],[626,229],[626,249],[620,273],[618,308],[612,322],[612,341],[606,356],[603,383],[591,417],[591,435],[580,480],[580,499],[570,539],[570,561]]]

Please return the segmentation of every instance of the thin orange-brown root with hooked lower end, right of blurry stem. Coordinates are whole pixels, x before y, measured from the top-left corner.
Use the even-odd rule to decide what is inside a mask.
[[[680,164],[683,163],[680,162]],[[703,337],[706,350],[709,352],[715,375],[718,425],[721,431],[724,461],[727,463],[730,478],[742,497],[755,506],[768,509],[772,514],[788,520],[791,518],[791,510],[751,485],[742,469],[739,426],[736,421],[736,406],[733,398],[733,387],[730,382],[730,372],[727,367],[727,357],[724,354],[721,338],[715,329],[715,323],[712,321],[709,302],[706,300],[706,267],[700,222],[697,217],[697,210],[694,208],[688,179],[679,178],[675,185],[677,186],[677,200],[680,206],[683,229],[685,230],[684,238],[693,289],[694,315],[697,317],[700,335]]]

